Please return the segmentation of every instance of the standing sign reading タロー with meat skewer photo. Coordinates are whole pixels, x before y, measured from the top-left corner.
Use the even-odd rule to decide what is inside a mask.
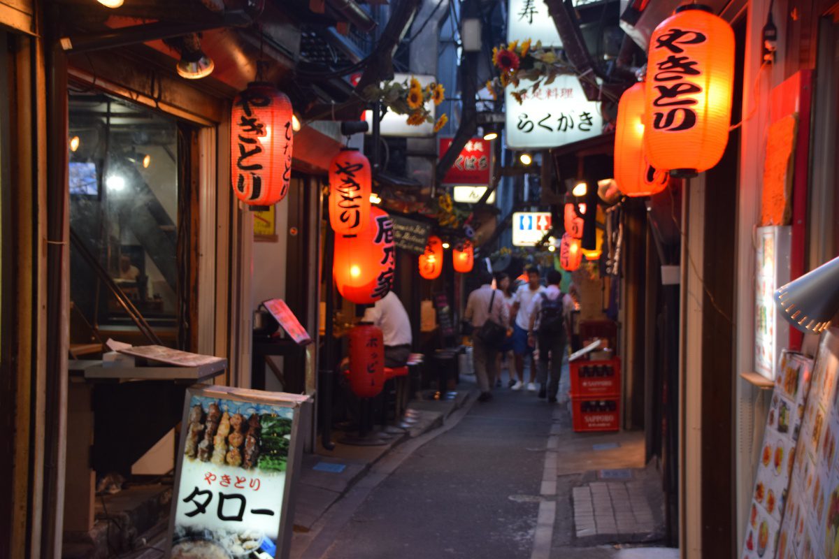
[[[308,396],[187,389],[167,556],[287,556]]]

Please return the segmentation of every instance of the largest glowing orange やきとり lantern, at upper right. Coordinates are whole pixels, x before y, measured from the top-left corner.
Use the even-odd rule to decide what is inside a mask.
[[[644,146],[655,168],[692,177],[719,163],[731,126],[734,32],[687,4],[649,40]]]

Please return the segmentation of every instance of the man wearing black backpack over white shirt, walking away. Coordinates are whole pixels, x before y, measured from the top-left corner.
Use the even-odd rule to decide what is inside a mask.
[[[533,347],[539,343],[539,398],[547,396],[550,403],[556,401],[556,392],[560,389],[562,359],[565,357],[565,333],[568,317],[574,308],[571,296],[560,290],[561,282],[560,272],[548,272],[548,287],[545,292],[539,293],[539,297],[534,298],[530,308],[528,344]]]

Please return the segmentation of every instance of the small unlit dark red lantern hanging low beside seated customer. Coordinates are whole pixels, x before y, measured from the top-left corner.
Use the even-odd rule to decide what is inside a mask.
[[[378,396],[384,386],[384,339],[382,330],[370,323],[360,323],[347,334],[350,345],[350,381],[352,393],[359,398]]]

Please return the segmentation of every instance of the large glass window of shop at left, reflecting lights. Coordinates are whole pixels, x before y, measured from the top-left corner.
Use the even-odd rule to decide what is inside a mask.
[[[97,92],[70,94],[71,344],[178,335],[179,128]]]

